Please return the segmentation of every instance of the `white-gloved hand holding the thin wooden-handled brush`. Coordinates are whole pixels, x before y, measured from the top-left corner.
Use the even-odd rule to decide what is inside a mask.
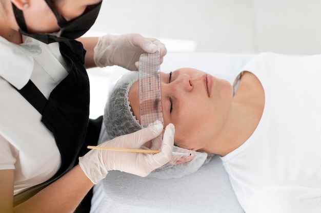
[[[168,124],[166,126],[163,141],[161,138],[159,139],[162,131],[163,124],[158,123],[135,133],[119,136],[99,145],[118,148],[142,148],[146,142],[152,140],[152,149],[160,147],[160,153],[144,154],[91,150],[85,156],[79,158],[79,166],[94,184],[97,184],[105,178],[108,171],[111,170],[119,170],[146,177],[154,169],[169,162],[172,157],[175,132],[174,125]],[[144,147],[144,149],[147,148]]]

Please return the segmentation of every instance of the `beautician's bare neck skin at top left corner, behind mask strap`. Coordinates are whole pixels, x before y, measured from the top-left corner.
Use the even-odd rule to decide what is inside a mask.
[[[15,44],[21,44],[22,35],[17,29],[11,2],[0,3],[0,36]]]

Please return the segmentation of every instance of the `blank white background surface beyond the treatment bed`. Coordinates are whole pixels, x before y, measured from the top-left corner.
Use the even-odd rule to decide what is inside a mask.
[[[320,0],[103,0],[90,33],[157,37],[170,52],[321,53]]]

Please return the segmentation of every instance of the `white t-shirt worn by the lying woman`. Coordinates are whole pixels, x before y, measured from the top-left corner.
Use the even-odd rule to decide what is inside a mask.
[[[246,212],[321,212],[321,55],[259,54],[243,71],[265,107],[251,137],[222,157]]]

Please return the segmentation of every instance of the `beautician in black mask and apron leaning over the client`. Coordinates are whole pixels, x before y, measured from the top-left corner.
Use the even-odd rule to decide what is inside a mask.
[[[160,41],[139,34],[74,40],[94,24],[101,4],[0,0],[0,212],[73,212],[108,171],[147,176],[171,158],[173,125],[163,141],[157,124],[101,144],[141,148],[152,140],[158,154],[86,148],[96,145],[102,122],[88,118],[86,68],[137,70],[142,53],[166,54]]]

